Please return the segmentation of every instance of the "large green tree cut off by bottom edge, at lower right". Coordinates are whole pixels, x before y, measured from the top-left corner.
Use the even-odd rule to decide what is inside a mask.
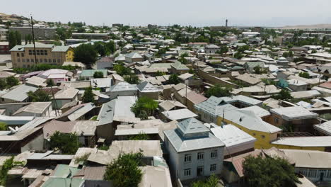
[[[286,159],[262,157],[246,157],[243,162],[245,186],[248,187],[295,187],[298,177],[294,172],[294,166]]]

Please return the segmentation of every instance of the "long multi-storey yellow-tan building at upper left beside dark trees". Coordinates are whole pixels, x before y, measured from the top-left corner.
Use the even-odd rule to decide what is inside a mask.
[[[62,65],[64,62],[72,62],[74,60],[74,50],[69,46],[36,42],[35,50],[33,44],[28,44],[16,45],[10,51],[13,68],[31,67],[35,64]],[[37,60],[35,60],[35,53]]]

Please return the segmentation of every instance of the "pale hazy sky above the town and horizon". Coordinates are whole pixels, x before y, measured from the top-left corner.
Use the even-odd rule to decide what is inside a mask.
[[[2,1],[2,2],[1,2]],[[331,23],[330,0],[0,0],[0,12],[93,26],[296,26]]]

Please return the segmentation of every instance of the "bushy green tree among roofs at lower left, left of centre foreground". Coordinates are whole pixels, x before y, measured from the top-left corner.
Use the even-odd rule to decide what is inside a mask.
[[[79,137],[76,133],[54,132],[50,137],[50,148],[59,149],[62,154],[76,154],[79,149]]]

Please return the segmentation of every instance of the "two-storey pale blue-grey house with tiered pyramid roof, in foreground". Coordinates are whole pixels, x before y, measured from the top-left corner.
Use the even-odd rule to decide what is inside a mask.
[[[224,144],[199,120],[189,118],[175,130],[166,130],[165,149],[170,169],[181,181],[221,174]]]

